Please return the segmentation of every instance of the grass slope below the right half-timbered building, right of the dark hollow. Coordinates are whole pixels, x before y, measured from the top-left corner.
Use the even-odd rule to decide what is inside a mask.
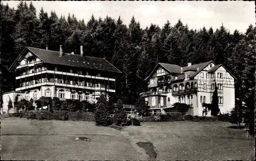
[[[253,160],[254,138],[227,122],[145,122],[122,130],[134,143],[152,142],[157,160]]]

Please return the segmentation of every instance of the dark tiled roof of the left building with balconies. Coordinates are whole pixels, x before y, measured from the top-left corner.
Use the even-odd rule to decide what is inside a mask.
[[[120,70],[118,70],[110,62],[106,61],[103,58],[95,58],[88,56],[81,57],[80,55],[72,55],[70,53],[64,52],[63,56],[60,57],[59,51],[51,51],[34,47],[27,48],[45,63],[121,73]]]

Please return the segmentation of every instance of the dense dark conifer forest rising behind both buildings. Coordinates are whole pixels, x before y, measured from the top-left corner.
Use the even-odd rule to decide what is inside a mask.
[[[2,4],[1,18],[2,92],[13,89],[14,74],[7,69],[25,46],[58,51],[62,45],[63,52],[79,54],[83,45],[85,55],[105,57],[123,72],[116,84],[117,99],[123,103],[136,102],[147,88],[143,79],[158,62],[186,66],[213,60],[237,78],[236,104],[244,116],[254,118],[255,26],[249,25],[245,33],[230,33],[223,25],[216,31],[204,26],[189,29],[179,20],[173,26],[167,21],[162,27],[152,23],[142,29],[135,17],[126,26],[120,17],[96,19],[93,15],[84,23],[74,15],[58,17],[43,8],[37,18],[33,4],[26,2],[17,9]]]

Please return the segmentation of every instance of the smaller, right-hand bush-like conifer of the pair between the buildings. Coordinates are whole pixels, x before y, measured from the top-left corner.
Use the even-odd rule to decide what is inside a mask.
[[[126,117],[126,113],[123,108],[123,103],[121,100],[118,100],[114,109],[114,116],[113,116],[114,124],[120,126],[122,121],[125,119],[125,117]]]

